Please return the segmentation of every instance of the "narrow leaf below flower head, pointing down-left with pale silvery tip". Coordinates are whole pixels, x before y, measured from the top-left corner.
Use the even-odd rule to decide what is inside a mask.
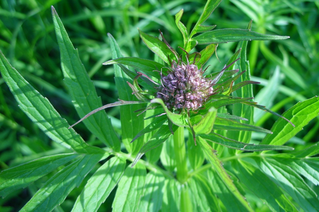
[[[178,126],[173,125],[172,131],[175,132]],[[145,152],[158,147],[161,143],[166,141],[169,136],[171,136],[171,130],[168,127],[168,124],[163,124],[159,130],[152,136],[152,138],[141,148],[141,150],[136,155],[135,160],[132,163],[132,167],[137,163],[137,161],[145,154]]]

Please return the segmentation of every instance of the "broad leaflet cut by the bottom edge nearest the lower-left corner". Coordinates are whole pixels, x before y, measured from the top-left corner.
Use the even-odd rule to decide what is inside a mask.
[[[20,211],[52,211],[76,186],[81,184],[85,176],[102,158],[102,154],[84,155],[66,166],[50,178]]]

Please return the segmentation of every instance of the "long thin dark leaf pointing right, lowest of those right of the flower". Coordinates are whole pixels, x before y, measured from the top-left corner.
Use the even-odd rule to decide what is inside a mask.
[[[226,138],[226,137],[221,136],[221,135],[216,134],[216,133],[210,133],[208,135],[198,134],[198,136],[200,136],[206,140],[209,140],[211,142],[221,144],[221,145],[226,146],[228,148],[244,150],[244,151],[293,150],[292,147],[288,147],[288,146],[256,145],[256,144],[243,143],[243,142],[240,142],[237,140],[232,140],[232,139]]]

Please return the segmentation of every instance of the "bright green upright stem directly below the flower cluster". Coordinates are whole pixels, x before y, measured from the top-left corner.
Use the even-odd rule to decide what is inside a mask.
[[[179,127],[174,135],[174,152],[176,158],[176,166],[177,166],[177,180],[181,183],[186,182],[187,176],[187,165],[186,165],[186,147],[185,147],[185,139],[184,139],[184,127]]]

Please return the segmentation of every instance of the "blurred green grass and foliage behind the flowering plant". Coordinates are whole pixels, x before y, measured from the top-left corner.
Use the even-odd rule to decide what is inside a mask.
[[[75,123],[79,117],[70,102],[63,83],[60,53],[54,32],[50,6],[62,19],[71,42],[93,80],[103,104],[115,102],[113,66],[102,66],[111,59],[107,33],[114,36],[125,56],[153,59],[137,28],[159,36],[161,29],[167,41],[177,49],[182,34],[175,25],[174,15],[184,9],[182,22],[189,29],[194,26],[206,1],[2,1],[0,3],[0,49],[21,75],[47,97],[62,117]],[[319,94],[319,1],[227,1],[205,22],[222,28],[246,28],[253,19],[252,30],[264,34],[288,35],[282,41],[249,42],[250,62],[256,102],[279,114],[298,101]],[[207,64],[208,72],[217,72],[233,55],[237,43],[219,44],[216,57]],[[196,50],[200,51],[201,46]],[[19,109],[9,88],[0,78],[0,163],[7,169],[27,161],[59,153],[65,149],[52,142]],[[119,107],[108,109],[112,123],[121,132]],[[277,117],[255,111],[256,125],[270,129]],[[312,120],[293,139],[289,146],[303,149],[319,140],[318,119]],[[89,144],[101,146],[84,125],[76,131]],[[253,133],[259,141],[264,135]],[[96,169],[92,170],[94,173]],[[16,211],[23,207],[42,184],[54,173],[0,199],[1,211]],[[89,174],[90,175],[90,174]],[[89,178],[89,176],[87,176]],[[83,182],[86,182],[84,180]],[[83,184],[83,185],[82,185]],[[59,207],[69,211],[85,183],[75,188]],[[318,186],[312,188],[319,193]],[[101,210],[110,209],[115,191]],[[56,209],[56,210],[59,210]],[[258,208],[258,207],[257,207]]]

